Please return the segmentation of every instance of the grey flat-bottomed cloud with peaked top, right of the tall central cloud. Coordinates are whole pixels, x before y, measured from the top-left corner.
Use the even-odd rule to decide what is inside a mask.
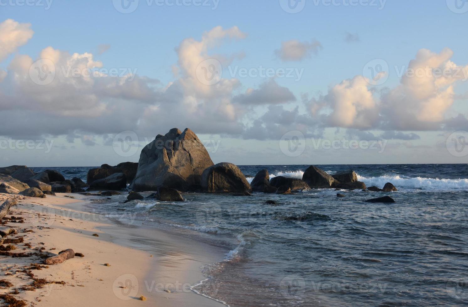
[[[275,79],[270,79],[257,89],[249,88],[245,93],[235,96],[233,101],[251,106],[282,104],[296,101],[296,96],[287,87],[279,86]]]

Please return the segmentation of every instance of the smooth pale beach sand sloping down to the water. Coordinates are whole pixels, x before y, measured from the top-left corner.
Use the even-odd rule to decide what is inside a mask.
[[[25,301],[25,306],[224,306],[190,287],[205,279],[200,266],[222,260],[225,250],[146,228],[141,222],[119,225],[89,214],[85,210],[89,197],[80,194],[58,193],[45,199],[0,194],[0,202],[7,199],[17,199],[18,205],[2,225],[15,228],[16,234],[5,238],[24,240],[11,244],[16,249],[10,252],[53,255],[73,249],[84,255],[40,270],[30,265],[42,263],[37,255],[0,256],[0,279],[13,284],[0,283],[0,293],[19,292],[13,297]],[[14,222],[21,220],[11,220],[12,216],[23,222]],[[44,278],[47,283],[32,289],[32,278]]]

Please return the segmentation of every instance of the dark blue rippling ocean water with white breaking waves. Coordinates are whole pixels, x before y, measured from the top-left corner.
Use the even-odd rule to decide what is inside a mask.
[[[302,178],[308,166],[239,167],[251,181],[264,168]],[[182,203],[123,204],[124,193],[96,198],[90,210],[225,247],[223,261],[200,268],[207,280],[194,290],[232,307],[467,306],[468,164],[317,166],[353,169],[367,186],[391,182],[398,192],[183,193]],[[86,181],[90,168],[52,169]],[[396,202],[365,202],[384,195]]]

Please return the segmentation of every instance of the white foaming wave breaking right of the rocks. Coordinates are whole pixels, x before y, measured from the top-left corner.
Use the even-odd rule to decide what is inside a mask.
[[[394,186],[413,189],[468,189],[468,179],[439,179],[439,178],[405,178],[402,176],[380,176],[380,177],[363,177],[358,175],[358,180],[366,184],[366,186],[382,187],[387,182],[391,182]]]

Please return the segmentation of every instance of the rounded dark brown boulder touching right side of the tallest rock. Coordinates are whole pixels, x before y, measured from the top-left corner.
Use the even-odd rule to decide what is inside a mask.
[[[223,162],[203,172],[202,190],[208,193],[243,193],[252,192],[252,187],[236,165]]]

